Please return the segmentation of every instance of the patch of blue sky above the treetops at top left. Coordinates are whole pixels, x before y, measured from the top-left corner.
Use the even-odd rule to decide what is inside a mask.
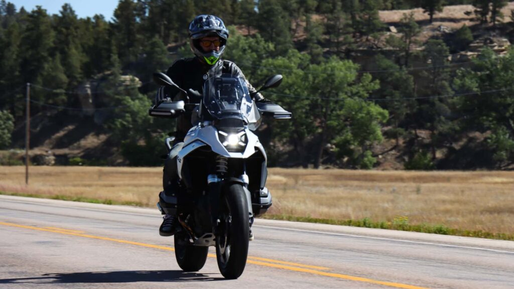
[[[107,21],[111,20],[114,9],[118,6],[118,0],[7,0],[7,2],[14,4],[17,11],[23,6],[30,12],[40,5],[48,14],[59,14],[63,4],[69,3],[79,18],[102,14]]]

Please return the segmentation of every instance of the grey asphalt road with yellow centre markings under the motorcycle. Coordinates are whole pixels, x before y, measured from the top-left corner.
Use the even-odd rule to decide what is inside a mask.
[[[0,288],[514,288],[514,242],[256,220],[237,280],[177,266],[157,209],[0,195]]]

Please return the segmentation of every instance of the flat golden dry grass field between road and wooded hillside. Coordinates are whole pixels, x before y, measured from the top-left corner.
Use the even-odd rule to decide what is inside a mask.
[[[0,167],[0,191],[155,207],[160,168]],[[270,169],[270,214],[444,225],[514,234],[514,172]],[[399,218],[407,217],[407,218]]]

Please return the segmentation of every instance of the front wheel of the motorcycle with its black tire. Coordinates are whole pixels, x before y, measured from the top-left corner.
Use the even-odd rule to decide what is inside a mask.
[[[240,184],[231,184],[220,202],[216,259],[218,268],[227,279],[236,279],[246,265],[248,256],[248,203]]]

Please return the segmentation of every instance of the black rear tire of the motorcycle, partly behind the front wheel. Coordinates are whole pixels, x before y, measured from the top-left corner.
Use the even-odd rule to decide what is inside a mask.
[[[196,272],[205,265],[209,247],[189,243],[185,232],[175,233],[175,258],[178,266],[186,272]]]

